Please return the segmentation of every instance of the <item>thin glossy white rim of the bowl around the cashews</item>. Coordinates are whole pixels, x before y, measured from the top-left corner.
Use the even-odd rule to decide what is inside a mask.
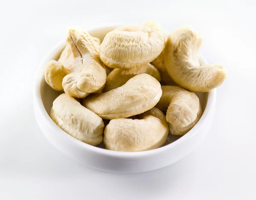
[[[101,26],[101,27],[94,27],[93,29],[89,29],[88,32],[97,31],[99,29],[111,29],[116,26]],[[33,87],[33,103],[35,106],[38,107],[39,112],[43,116],[44,120],[51,126],[51,128],[54,130],[55,134],[59,133],[65,133],[63,136],[66,136],[67,139],[74,143],[75,145],[80,146],[81,148],[84,148],[87,151],[93,151],[96,154],[102,154],[109,157],[116,157],[116,158],[131,158],[131,159],[137,159],[140,157],[149,157],[151,155],[155,154],[161,154],[163,151],[168,151],[171,148],[174,148],[177,145],[180,145],[181,143],[185,142],[186,140],[192,138],[195,136],[200,129],[200,127],[204,124],[207,117],[210,115],[209,110],[212,110],[212,107],[215,104],[216,99],[216,88],[208,92],[208,99],[206,102],[206,107],[204,110],[204,113],[202,114],[201,118],[197,122],[197,124],[189,130],[188,133],[181,136],[179,139],[175,140],[174,142],[170,143],[169,145],[165,145],[163,147],[152,149],[148,151],[139,151],[139,152],[124,152],[124,151],[112,151],[108,149],[99,148],[93,145],[89,145],[85,142],[82,142],[73,136],[70,136],[68,133],[66,133],[64,130],[58,127],[50,116],[48,115],[47,111],[44,108],[43,101],[41,99],[41,84],[42,81],[44,81],[44,67],[46,63],[50,60],[53,54],[55,52],[60,51],[61,49],[64,49],[65,45],[67,43],[65,41],[58,42],[52,49],[47,53],[47,55],[43,58],[41,63],[38,66],[38,69],[36,70],[35,79],[34,79],[34,87]],[[35,110],[34,110],[35,113]],[[44,133],[43,133],[44,134]]]

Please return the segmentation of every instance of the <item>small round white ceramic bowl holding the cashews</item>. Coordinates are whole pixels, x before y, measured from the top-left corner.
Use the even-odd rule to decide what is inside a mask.
[[[94,29],[89,33],[102,41],[113,28]],[[102,144],[95,147],[73,138],[61,130],[50,118],[49,111],[52,102],[60,93],[52,90],[44,80],[44,68],[47,62],[57,60],[65,45],[65,42],[56,45],[41,62],[35,78],[33,105],[36,120],[46,138],[68,157],[83,165],[103,171],[125,173],[151,171],[177,162],[189,154],[206,135],[215,112],[216,90],[209,93],[197,93],[204,110],[201,119],[184,136],[169,134],[166,144],[161,148],[142,152],[110,151],[104,149]]]

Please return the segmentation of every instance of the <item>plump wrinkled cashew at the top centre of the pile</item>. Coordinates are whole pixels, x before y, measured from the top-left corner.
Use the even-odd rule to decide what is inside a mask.
[[[165,34],[154,21],[147,21],[136,32],[109,32],[99,49],[100,59],[111,68],[133,68],[150,63],[162,52]]]

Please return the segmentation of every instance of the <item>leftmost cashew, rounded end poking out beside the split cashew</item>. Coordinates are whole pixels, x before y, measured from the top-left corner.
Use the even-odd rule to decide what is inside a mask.
[[[44,70],[44,78],[53,90],[63,91],[62,79],[69,70],[58,61],[49,61]]]

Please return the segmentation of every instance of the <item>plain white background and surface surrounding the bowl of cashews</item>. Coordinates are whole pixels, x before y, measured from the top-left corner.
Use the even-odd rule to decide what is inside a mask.
[[[44,0],[0,6],[0,200],[255,200],[256,3],[254,0]],[[79,165],[38,128],[32,81],[67,26],[142,23],[166,30],[189,24],[201,52],[226,67],[215,119],[204,141],[169,167],[113,174]]]

